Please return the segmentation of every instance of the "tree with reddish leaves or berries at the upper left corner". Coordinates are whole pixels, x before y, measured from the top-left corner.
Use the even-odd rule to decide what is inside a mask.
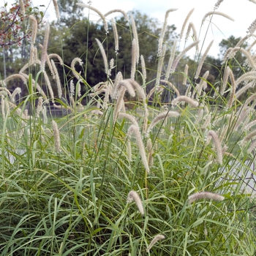
[[[38,24],[43,12],[31,6],[31,0],[15,1],[11,6],[6,2],[0,8],[0,78],[18,72],[21,64],[28,59],[31,29],[28,29],[29,15],[34,15]]]

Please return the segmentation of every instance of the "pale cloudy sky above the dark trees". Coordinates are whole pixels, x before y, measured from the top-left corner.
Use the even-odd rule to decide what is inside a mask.
[[[83,3],[88,4],[88,1],[89,0],[83,1]],[[256,3],[255,0],[223,0],[217,11],[224,12],[235,21],[228,20],[220,15],[214,15],[211,23],[209,23],[208,19],[203,26],[201,26],[203,16],[206,15],[207,12],[214,10],[214,5],[217,3],[217,0],[91,0],[91,6],[97,8],[103,14],[113,9],[121,9],[125,12],[129,10],[139,10],[140,12],[146,13],[149,17],[159,19],[162,23],[165,20],[165,12],[169,9],[177,8],[178,10],[175,12],[170,12],[167,23],[169,25],[174,24],[177,27],[176,32],[178,34],[181,32],[187,14],[190,10],[195,8],[189,18],[187,26],[189,22],[194,23],[197,34],[200,33],[199,39],[202,53],[206,50],[211,40],[214,39],[214,43],[208,55],[217,56],[219,53],[219,42],[222,39],[227,39],[230,35],[235,37],[246,36],[247,29],[252,22],[256,20],[256,4],[254,2]],[[33,0],[33,3],[34,5],[42,4],[42,0]],[[53,12],[52,0],[44,0],[43,4],[45,4],[45,7],[49,5],[46,19],[54,18],[55,14]],[[85,12],[88,13],[88,10],[85,10]],[[92,10],[90,10],[90,13],[97,15]],[[118,13],[108,17],[112,18],[115,15],[118,15]],[[93,16],[91,15],[90,17]],[[186,31],[187,27],[185,34]],[[205,39],[206,31],[208,32]],[[182,47],[184,47],[182,43],[181,41],[181,50]],[[194,52],[190,50],[188,55],[192,56],[195,54]]]

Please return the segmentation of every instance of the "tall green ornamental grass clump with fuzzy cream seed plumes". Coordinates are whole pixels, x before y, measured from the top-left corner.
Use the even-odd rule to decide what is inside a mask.
[[[131,29],[136,34],[133,19]],[[164,33],[159,49],[166,48]],[[180,95],[172,79],[183,81],[185,73],[175,70],[199,41],[178,51],[165,105],[159,95],[164,62],[157,65],[157,82],[146,82],[146,67],[138,69],[138,35],[131,42],[129,79],[122,71],[110,76],[108,50],[97,40],[106,80],[90,85],[94,91],[75,62],[70,73],[76,84],[70,79],[58,87],[50,59],[61,57],[48,55],[47,41],[41,61],[37,56],[20,71],[26,97],[15,100],[7,89],[12,79],[1,80],[1,253],[255,255],[255,94],[236,98],[239,77],[228,60],[225,85],[221,76],[217,85],[199,76]],[[161,54],[159,62],[165,50]],[[253,65],[243,71],[255,83],[250,57]],[[34,65],[38,72],[30,72]],[[59,97],[51,92],[54,81]],[[135,99],[132,108],[124,97]],[[55,110],[62,115],[56,118]]]

